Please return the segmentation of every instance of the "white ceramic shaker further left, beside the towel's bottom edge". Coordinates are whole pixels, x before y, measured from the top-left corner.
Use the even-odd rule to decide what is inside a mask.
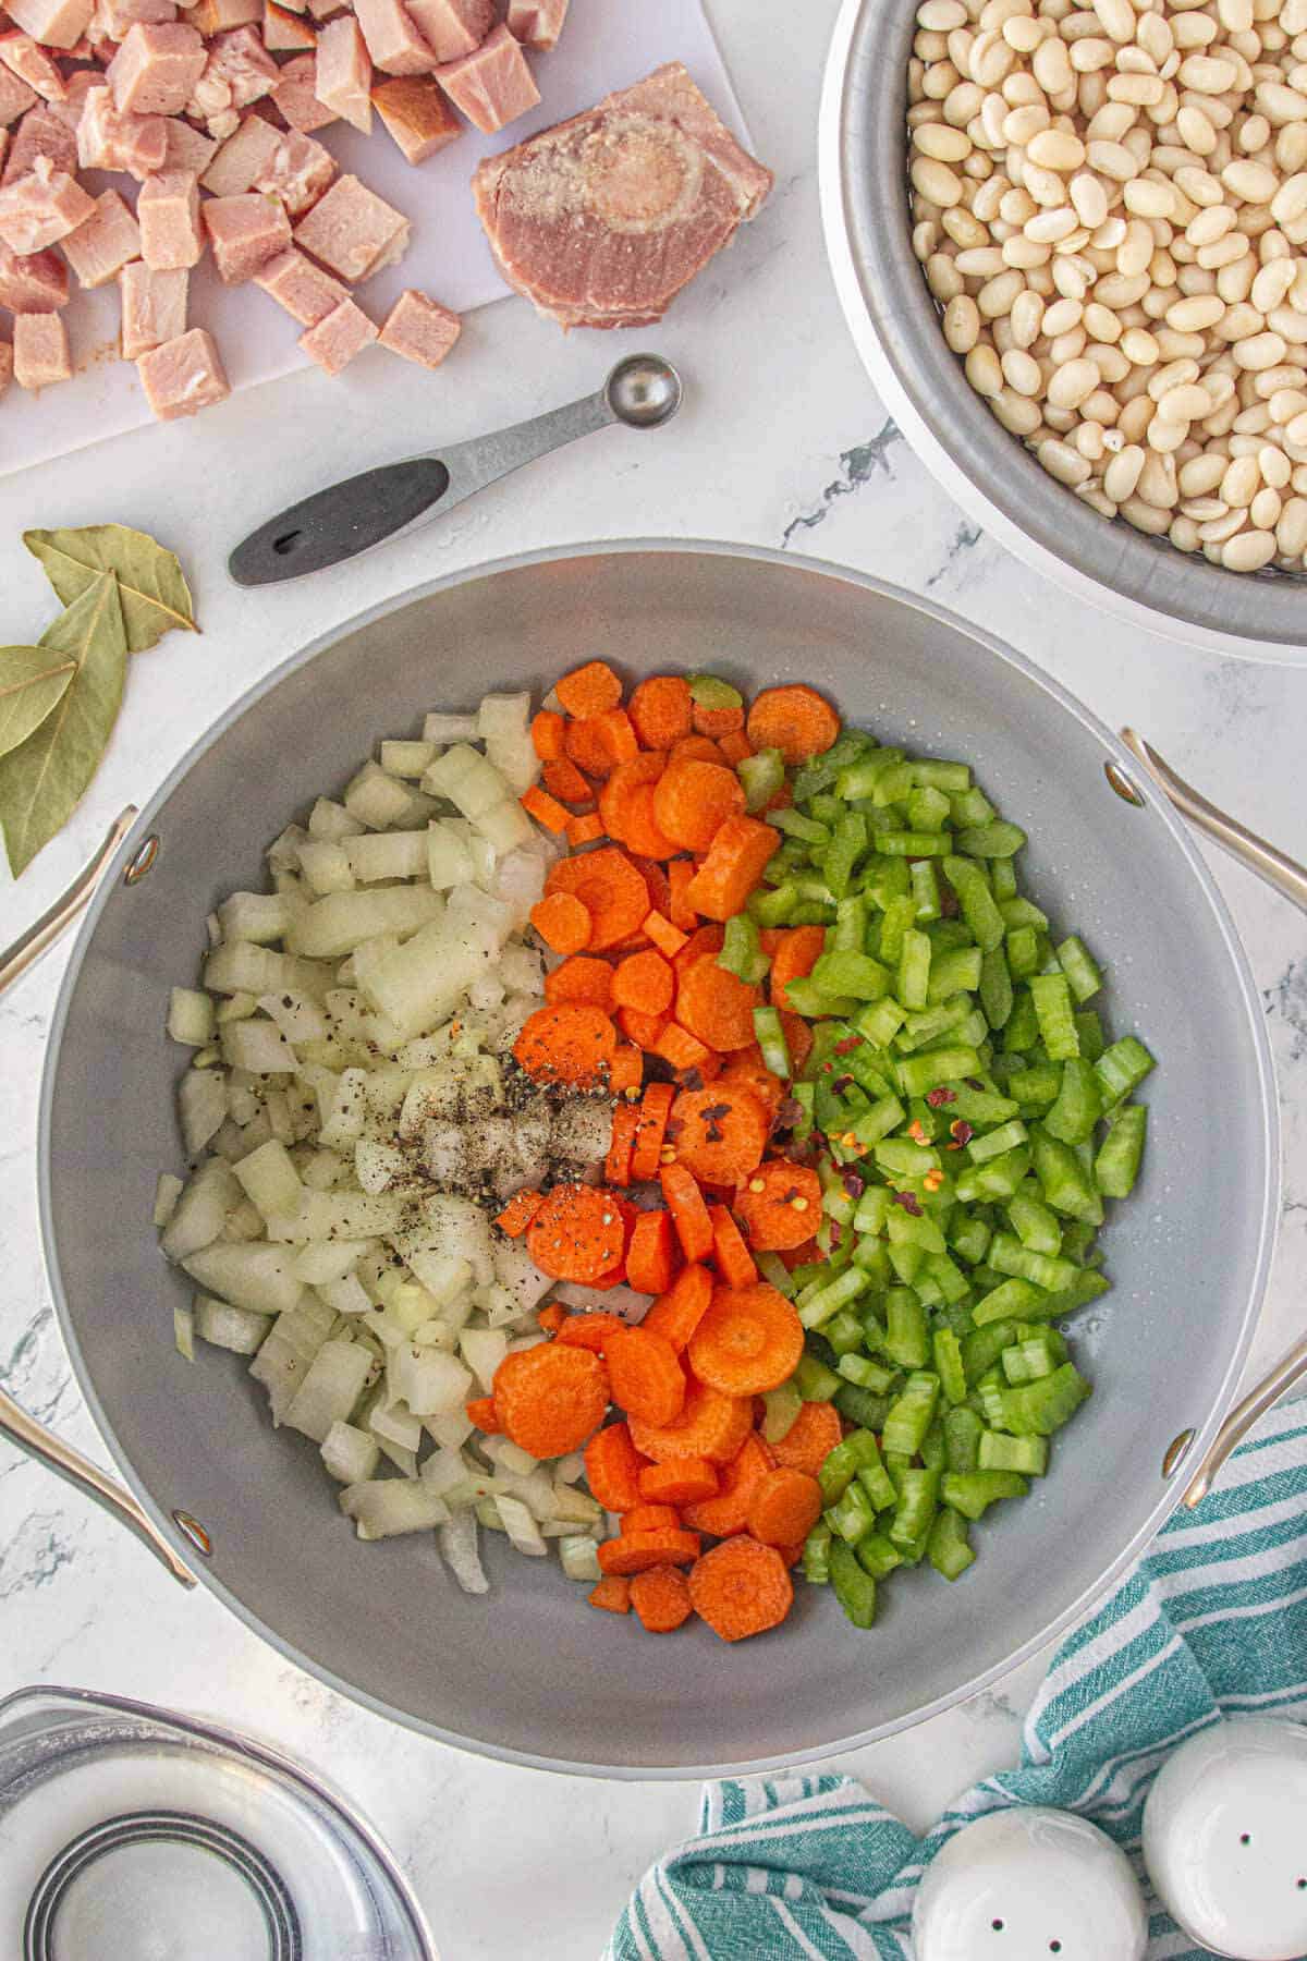
[[[988,1812],[927,1869],[917,1961],[1142,1961],[1148,1918],[1131,1861],[1086,1818]]]

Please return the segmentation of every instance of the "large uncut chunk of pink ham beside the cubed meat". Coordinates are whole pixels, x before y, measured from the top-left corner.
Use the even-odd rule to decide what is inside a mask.
[[[674,61],[488,157],[476,210],[509,286],[562,327],[643,327],[772,188]]]

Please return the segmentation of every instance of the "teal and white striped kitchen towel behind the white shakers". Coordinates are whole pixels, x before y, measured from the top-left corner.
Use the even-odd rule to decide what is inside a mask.
[[[700,1830],[623,1912],[607,1961],[911,1961],[939,1847],[982,1812],[1054,1804],[1138,1855],[1148,1786],[1221,1714],[1307,1718],[1307,1400],[1272,1410],[1213,1494],[1180,1512],[1062,1643],[1021,1767],[915,1837],[850,1777],[705,1785]],[[1152,1894],[1148,1961],[1201,1961]]]

